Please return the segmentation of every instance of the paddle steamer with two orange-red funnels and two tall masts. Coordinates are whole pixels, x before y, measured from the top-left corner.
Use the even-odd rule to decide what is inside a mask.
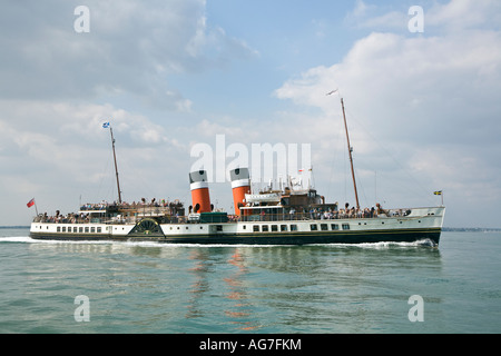
[[[189,174],[191,205],[180,201],[121,200],[115,139],[109,123],[117,176],[118,201],[86,205],[78,214],[38,215],[30,227],[33,239],[50,240],[148,240],[170,244],[306,245],[415,243],[438,246],[443,225],[443,206],[425,208],[362,209],[358,204],[352,148],[346,129],[356,206],[325,202],[308,187],[293,185],[253,194],[247,168],[230,171],[235,214],[214,211],[207,174]]]

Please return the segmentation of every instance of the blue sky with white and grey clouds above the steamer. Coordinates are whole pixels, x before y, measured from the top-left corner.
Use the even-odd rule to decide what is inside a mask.
[[[116,200],[107,121],[126,201],[189,206],[206,168],[233,212],[257,161],[256,190],[285,165],[354,205],[343,98],[362,207],[501,227],[498,0],[1,1],[0,226]],[[255,147],[285,148],[269,177]]]

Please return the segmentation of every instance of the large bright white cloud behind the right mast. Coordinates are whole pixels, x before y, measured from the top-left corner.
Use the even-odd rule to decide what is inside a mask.
[[[500,6],[495,1],[478,4],[451,1],[434,6],[424,13],[429,27],[419,36],[371,32],[356,41],[341,62],[311,68],[286,81],[275,95],[301,107],[321,109],[316,119],[327,128],[341,109],[338,99],[325,93],[338,88],[354,131],[355,160],[358,167],[369,168],[369,178],[372,169],[381,169],[374,164],[382,164],[381,156],[390,152],[409,177],[390,166],[383,166],[380,176],[386,171],[400,180],[412,178],[412,185],[418,178],[430,190],[449,189],[453,204],[463,197],[473,206],[483,201],[485,191],[491,195],[489,200],[493,195],[499,200]],[[379,27],[384,16],[372,19],[370,10],[358,1],[352,16],[372,20],[365,22],[367,27]],[[317,135],[330,140],[327,132],[332,131]],[[395,166],[387,161],[391,164]],[[395,186],[387,188],[395,190]]]

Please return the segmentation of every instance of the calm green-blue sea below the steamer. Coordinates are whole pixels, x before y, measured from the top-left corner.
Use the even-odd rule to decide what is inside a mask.
[[[439,248],[245,247],[3,228],[0,333],[500,333],[500,257],[497,233],[443,233]]]

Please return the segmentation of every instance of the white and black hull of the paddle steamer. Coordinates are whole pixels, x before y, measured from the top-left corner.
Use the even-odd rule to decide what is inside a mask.
[[[428,241],[438,246],[444,208],[415,209],[414,216],[367,219],[267,220],[161,224],[32,222],[30,236],[45,240],[157,241],[214,245],[311,245]]]

